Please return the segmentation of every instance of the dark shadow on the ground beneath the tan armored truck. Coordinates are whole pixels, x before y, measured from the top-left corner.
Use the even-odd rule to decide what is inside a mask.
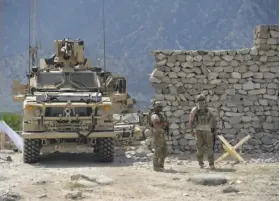
[[[118,156],[112,163],[100,163],[90,153],[52,153],[42,155],[40,161],[32,166],[44,168],[122,167],[131,166],[134,162],[133,159]]]

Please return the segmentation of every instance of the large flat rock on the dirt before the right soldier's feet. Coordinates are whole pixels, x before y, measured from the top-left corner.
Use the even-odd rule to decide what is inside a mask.
[[[194,184],[217,186],[227,183],[227,178],[221,174],[199,174],[189,179]]]

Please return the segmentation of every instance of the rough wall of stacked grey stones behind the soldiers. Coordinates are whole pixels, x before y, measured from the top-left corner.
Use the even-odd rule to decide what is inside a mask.
[[[195,150],[188,116],[200,92],[216,110],[219,134],[233,144],[250,134],[246,149],[272,149],[279,139],[278,34],[278,25],[258,25],[253,48],[152,52],[150,82],[170,123],[169,153]]]

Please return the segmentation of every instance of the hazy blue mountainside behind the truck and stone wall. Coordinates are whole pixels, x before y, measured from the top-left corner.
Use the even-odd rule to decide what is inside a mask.
[[[81,38],[96,64],[103,57],[102,1],[54,2],[40,0],[41,55],[53,51],[54,39]],[[1,3],[0,108],[18,111],[11,83],[24,81],[28,68],[28,0]],[[257,24],[279,23],[278,8],[276,0],[106,0],[108,69],[127,76],[131,95],[147,105],[154,92],[148,82],[151,50],[251,47]]]

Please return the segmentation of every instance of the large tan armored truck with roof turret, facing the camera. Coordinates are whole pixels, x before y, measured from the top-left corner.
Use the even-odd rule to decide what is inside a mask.
[[[51,58],[32,66],[29,84],[14,81],[14,101],[23,102],[23,161],[37,162],[43,148],[82,145],[98,161],[112,162],[112,115],[127,99],[126,79],[93,67],[82,40],[55,40],[54,46]]]

